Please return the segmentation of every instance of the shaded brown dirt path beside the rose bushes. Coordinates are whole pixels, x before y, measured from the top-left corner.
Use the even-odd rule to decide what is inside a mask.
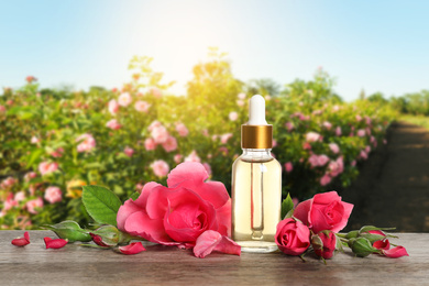
[[[346,230],[372,224],[429,232],[429,130],[397,122],[387,142],[341,193],[344,201],[355,205]]]

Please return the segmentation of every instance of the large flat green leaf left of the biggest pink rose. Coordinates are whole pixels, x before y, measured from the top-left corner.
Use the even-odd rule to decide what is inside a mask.
[[[117,213],[122,202],[111,190],[101,186],[84,186],[82,202],[98,223],[117,226]]]

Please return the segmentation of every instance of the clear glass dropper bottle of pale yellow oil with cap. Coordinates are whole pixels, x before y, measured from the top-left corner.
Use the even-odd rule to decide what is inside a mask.
[[[243,154],[232,165],[232,239],[243,252],[273,252],[282,212],[282,166],[271,155],[273,125],[265,121],[260,95],[250,99],[241,147]]]

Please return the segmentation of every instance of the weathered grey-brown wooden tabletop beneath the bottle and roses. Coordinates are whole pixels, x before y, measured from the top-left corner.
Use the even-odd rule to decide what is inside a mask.
[[[359,258],[338,253],[324,265],[312,255],[304,263],[283,253],[241,256],[213,253],[197,258],[191,251],[147,245],[136,255],[68,244],[46,250],[30,231],[31,244],[11,240],[23,231],[0,231],[0,285],[429,285],[429,233],[399,233],[397,244],[409,257]]]

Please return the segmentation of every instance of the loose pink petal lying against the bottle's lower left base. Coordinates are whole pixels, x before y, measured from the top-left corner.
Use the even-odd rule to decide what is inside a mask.
[[[194,248],[194,254],[197,257],[204,258],[212,251],[235,254],[240,256],[241,246],[229,238],[221,235],[219,232],[208,230],[197,239],[196,245]]]

